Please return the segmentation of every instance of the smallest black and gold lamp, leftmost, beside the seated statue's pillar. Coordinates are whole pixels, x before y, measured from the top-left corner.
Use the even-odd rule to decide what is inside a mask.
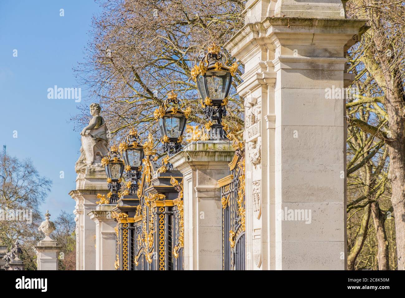
[[[113,145],[107,156],[101,159],[101,164],[105,167],[107,174],[108,190],[107,198],[110,203],[116,203],[121,196],[119,193],[121,189],[122,173],[124,172],[124,161],[121,159],[119,149]]]

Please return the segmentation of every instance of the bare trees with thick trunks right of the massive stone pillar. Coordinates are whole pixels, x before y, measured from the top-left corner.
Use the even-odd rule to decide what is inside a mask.
[[[388,154],[389,170],[387,179],[390,185],[390,203],[393,208],[396,231],[398,269],[405,270],[405,133],[404,133],[404,23],[403,1],[392,0],[352,0],[348,2],[349,17],[367,19],[371,27],[362,35],[358,46],[349,52],[349,71],[356,75],[354,86],[360,90],[354,101],[347,103],[348,124],[367,135],[362,148],[354,153],[354,170],[360,169],[376,158],[384,147]],[[358,141],[358,139],[354,139]],[[370,165],[374,171],[378,166]],[[348,169],[350,174],[350,169]],[[386,178],[377,179],[365,174],[367,191],[381,193],[381,183]],[[385,176],[385,174],[384,174]],[[369,180],[369,178],[371,180]],[[384,179],[384,180],[382,180]],[[378,182],[372,184],[372,182]],[[370,184],[369,184],[370,182]],[[375,189],[380,185],[379,189]],[[381,209],[378,199],[369,195],[360,196],[352,204],[364,206],[364,225],[367,229],[367,216],[373,214],[378,237],[380,268],[386,268],[386,237],[382,226]],[[368,221],[367,221],[368,222]],[[363,229],[363,232],[364,232]],[[364,236],[364,233],[361,233]],[[361,240],[361,239],[360,239]],[[361,242],[361,241],[360,241]],[[360,244],[360,242],[358,244]],[[356,249],[356,251],[358,248]],[[353,251],[355,253],[355,251]],[[353,255],[352,255],[353,256]],[[350,255],[349,255],[350,257]],[[350,264],[349,264],[350,265]]]

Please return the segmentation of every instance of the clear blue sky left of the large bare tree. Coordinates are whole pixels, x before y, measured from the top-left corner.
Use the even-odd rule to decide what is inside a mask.
[[[6,144],[9,155],[32,159],[53,180],[41,208],[53,219],[75,208],[68,192],[75,189],[80,138],[69,120],[81,103],[48,99],[47,89],[81,87],[85,101],[85,86],[78,85],[72,68],[84,60],[92,16],[99,12],[93,0],[0,1],[0,148]]]

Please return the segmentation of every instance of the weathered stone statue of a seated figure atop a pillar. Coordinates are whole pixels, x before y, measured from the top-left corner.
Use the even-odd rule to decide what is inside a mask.
[[[97,103],[90,105],[90,114],[93,116],[81,131],[80,157],[76,162],[76,173],[84,172],[86,167],[102,167],[101,159],[109,152],[107,125],[100,116],[101,107]]]

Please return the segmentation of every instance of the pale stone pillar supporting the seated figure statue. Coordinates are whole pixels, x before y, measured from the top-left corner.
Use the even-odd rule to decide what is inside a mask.
[[[107,175],[102,167],[87,167],[76,178],[76,189],[69,195],[75,200],[76,269],[96,270],[96,223],[87,215],[96,210],[97,194],[107,194]]]

